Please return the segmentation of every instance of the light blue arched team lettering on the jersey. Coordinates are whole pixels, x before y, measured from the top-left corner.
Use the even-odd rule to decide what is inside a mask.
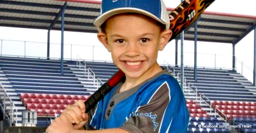
[[[158,127],[158,123],[156,122],[156,118],[157,118],[157,115],[152,115],[152,112],[150,113],[138,113],[138,112],[132,112],[130,113],[130,116],[126,117],[126,121],[128,119],[130,119],[131,117],[134,117],[134,116],[146,116],[146,117],[149,117],[150,119],[152,119],[152,122],[154,124],[154,131],[156,131],[157,127]]]

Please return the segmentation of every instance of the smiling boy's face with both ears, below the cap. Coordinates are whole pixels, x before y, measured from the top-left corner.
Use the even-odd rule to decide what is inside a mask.
[[[139,14],[119,14],[106,21],[105,31],[98,33],[98,38],[126,77],[144,77],[159,70],[158,50],[163,50],[171,32],[161,32],[155,20]]]

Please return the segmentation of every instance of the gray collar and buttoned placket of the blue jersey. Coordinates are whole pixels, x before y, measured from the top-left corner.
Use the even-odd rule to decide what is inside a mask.
[[[121,93],[119,93],[119,90],[120,90],[122,84],[124,83],[124,81],[123,81],[123,82],[120,82],[119,84],[117,84],[117,89],[116,89],[116,91],[115,91],[115,94],[114,94],[114,96],[111,98],[111,100],[109,101],[109,104],[110,104],[111,101],[113,101],[115,104],[114,104],[114,106],[110,106],[110,105],[108,104],[108,107],[107,107],[106,112],[105,112],[105,119],[106,119],[106,120],[109,120],[109,116],[110,116],[110,115],[107,114],[108,110],[110,110],[110,114],[111,114],[113,108],[115,108],[115,105],[117,105],[117,104],[118,104],[119,102],[121,102],[122,100],[124,100],[124,99],[126,99],[127,97],[130,97],[131,95],[133,95],[134,93],[136,93],[137,90],[139,90],[139,88],[141,88],[141,86],[143,86],[143,84],[145,84],[145,83],[147,83],[148,81],[151,81],[151,80],[155,79],[156,77],[158,77],[158,76],[160,76],[160,75],[163,75],[163,74],[171,75],[170,72],[168,72],[167,69],[164,69],[164,70],[158,72],[158,73],[157,73],[156,75],[154,75],[153,77],[150,77],[149,79],[147,79],[147,80],[145,80],[144,82],[140,83],[139,85],[137,85],[137,86],[135,86],[135,87],[133,87],[133,88],[127,90],[127,91],[121,92]]]

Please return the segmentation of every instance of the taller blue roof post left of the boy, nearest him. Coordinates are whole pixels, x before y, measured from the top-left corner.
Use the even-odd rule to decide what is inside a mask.
[[[64,17],[65,17],[65,9],[61,12],[61,75],[63,75],[63,56],[64,56]]]

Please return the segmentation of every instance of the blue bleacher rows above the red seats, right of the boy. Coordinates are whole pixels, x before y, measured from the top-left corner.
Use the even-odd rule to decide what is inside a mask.
[[[176,74],[180,72],[179,67],[171,67],[171,70]],[[197,82],[193,72],[194,68],[184,68],[186,81],[210,100],[256,101],[256,95],[250,91],[252,83],[232,70],[198,68]]]

